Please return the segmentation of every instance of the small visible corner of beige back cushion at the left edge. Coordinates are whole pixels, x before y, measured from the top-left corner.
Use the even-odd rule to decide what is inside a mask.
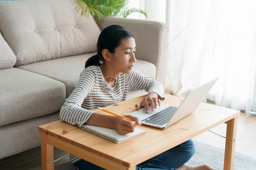
[[[10,49],[3,36],[0,34],[0,69],[12,67],[16,62],[16,56]]]

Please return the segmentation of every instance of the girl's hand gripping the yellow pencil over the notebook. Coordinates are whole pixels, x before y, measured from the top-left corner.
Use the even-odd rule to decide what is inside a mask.
[[[118,133],[121,135],[131,133],[134,131],[137,125],[141,125],[137,117],[134,117],[132,115],[125,115],[125,117],[128,117],[134,121],[125,120],[123,118],[117,117],[117,120],[115,123],[115,130],[117,130]]]

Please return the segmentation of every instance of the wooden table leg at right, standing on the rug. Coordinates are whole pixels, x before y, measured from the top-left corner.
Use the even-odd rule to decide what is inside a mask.
[[[226,144],[224,157],[224,170],[234,169],[237,117],[226,122]]]

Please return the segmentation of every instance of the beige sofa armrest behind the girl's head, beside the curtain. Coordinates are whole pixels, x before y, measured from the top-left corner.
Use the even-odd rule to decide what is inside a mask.
[[[137,20],[105,16],[97,21],[101,30],[109,25],[121,25],[130,30],[136,40],[136,58],[156,66],[155,79],[165,87],[167,76],[168,32],[167,24],[157,21]]]

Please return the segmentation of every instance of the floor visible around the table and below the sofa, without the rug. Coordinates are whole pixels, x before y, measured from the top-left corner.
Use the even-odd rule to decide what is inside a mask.
[[[194,140],[208,143],[220,148],[225,148],[225,136],[226,124],[222,124],[213,128],[211,131],[218,135],[206,131],[205,133],[198,135]],[[219,136],[221,135],[221,136]],[[241,113],[238,117],[237,135],[236,135],[236,151],[244,155],[249,155],[256,159],[256,115],[247,116],[245,113]],[[54,149],[54,159],[58,159],[67,153]],[[54,163],[54,169],[58,170],[61,167],[69,165],[69,156],[64,157]],[[27,150],[25,152],[12,155],[0,160],[0,169],[8,170],[41,170],[41,150],[40,147]]]

